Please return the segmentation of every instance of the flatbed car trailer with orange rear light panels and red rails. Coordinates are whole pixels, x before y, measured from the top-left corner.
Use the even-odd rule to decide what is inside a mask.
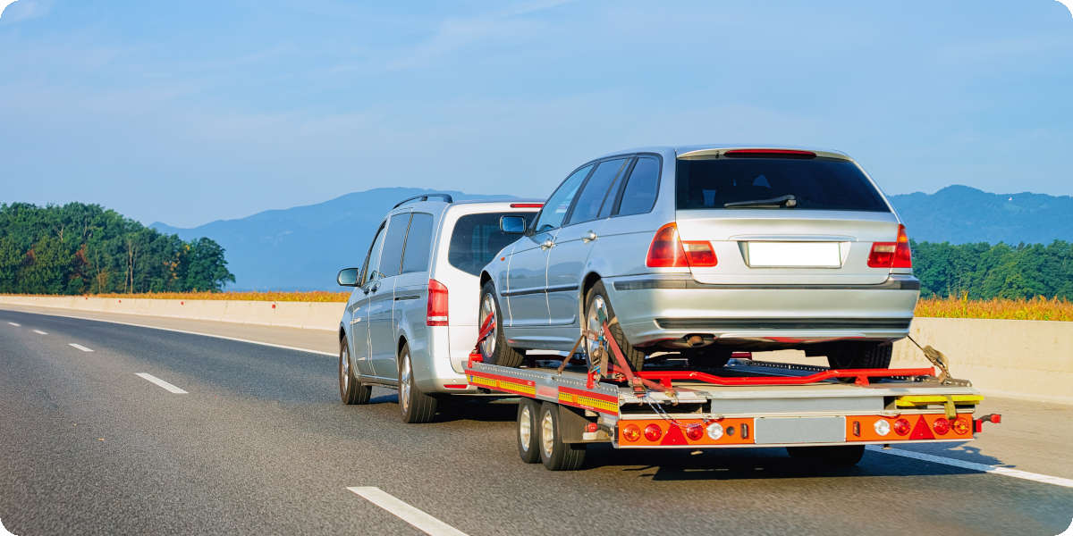
[[[494,322],[483,323],[477,345]],[[530,361],[526,368],[482,362],[477,348],[470,355],[470,385],[520,397],[515,428],[527,463],[577,470],[587,444],[611,443],[615,448],[787,447],[792,457],[852,465],[865,445],[966,442],[984,422],[1001,420],[998,414],[974,419],[980,391],[945,370],[937,377],[930,367],[829,369],[753,361],[750,354],[736,353],[711,370],[690,370],[684,359],[672,358],[633,371],[613,338],[586,330],[578,345],[586,338],[602,344],[588,364],[572,364],[573,352],[561,361]],[[606,357],[599,355],[601,347],[609,351]]]

